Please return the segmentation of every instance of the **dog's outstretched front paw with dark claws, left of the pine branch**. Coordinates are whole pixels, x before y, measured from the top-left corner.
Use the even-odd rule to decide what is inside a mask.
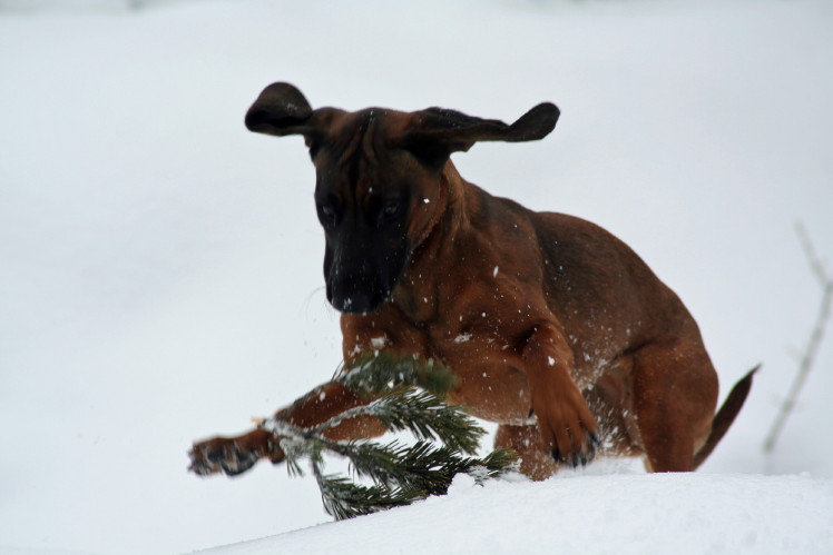
[[[188,456],[188,469],[194,474],[208,476],[225,473],[236,476],[252,468],[263,457],[280,463],[284,453],[271,432],[255,429],[239,437],[215,437],[196,443]]]

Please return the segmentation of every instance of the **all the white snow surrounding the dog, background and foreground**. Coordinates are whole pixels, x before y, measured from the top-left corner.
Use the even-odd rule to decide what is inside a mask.
[[[833,272],[832,30],[826,0],[0,11],[0,552],[183,553],[329,521],[283,468],[185,472],[193,439],[339,361],[303,143],[242,125],[274,80],[350,109],[511,120],[555,101],[549,138],[478,145],[461,174],[626,240],[697,318],[724,393],[764,370],[697,475],[463,480],[232,553],[388,526],[406,553],[833,552],[833,338],[761,450],[821,296],[796,220]]]

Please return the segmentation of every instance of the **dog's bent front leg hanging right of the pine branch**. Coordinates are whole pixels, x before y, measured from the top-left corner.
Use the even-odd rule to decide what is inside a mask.
[[[598,444],[596,419],[570,376],[572,350],[555,325],[535,328],[523,363],[545,448],[561,463],[588,463]]]

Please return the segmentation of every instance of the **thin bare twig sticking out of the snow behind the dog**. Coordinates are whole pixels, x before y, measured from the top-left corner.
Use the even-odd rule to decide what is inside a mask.
[[[797,224],[796,231],[798,234],[798,239],[801,240],[802,247],[804,248],[804,254],[806,255],[807,261],[810,262],[811,271],[822,287],[822,303],[819,309],[819,316],[816,316],[815,319],[815,326],[813,326],[813,331],[810,335],[810,340],[807,341],[807,346],[804,349],[801,361],[798,363],[798,373],[795,375],[793,385],[790,387],[790,393],[784,399],[784,403],[781,405],[781,410],[778,412],[778,415],[773,423],[772,429],[770,429],[770,434],[766,436],[766,440],[764,442],[764,450],[766,453],[772,452],[775,447],[775,442],[777,440],[778,435],[784,427],[784,423],[786,422],[787,416],[790,416],[793,408],[795,408],[798,399],[798,394],[801,393],[801,389],[804,386],[804,381],[806,381],[807,376],[810,375],[810,370],[813,367],[813,363],[815,361],[815,355],[819,351],[819,346],[822,343],[822,337],[824,336],[824,327],[830,319],[831,305],[833,304],[833,279],[827,277],[824,265],[815,255],[815,249],[813,248],[813,244],[810,241],[810,237],[807,236],[807,231],[804,229],[804,226]]]

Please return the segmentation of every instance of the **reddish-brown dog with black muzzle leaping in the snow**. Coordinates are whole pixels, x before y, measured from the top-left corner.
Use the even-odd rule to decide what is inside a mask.
[[[541,139],[558,116],[551,103],[510,126],[438,108],[313,110],[274,83],[246,126],[302,135],[310,148],[346,361],[381,348],[441,360],[459,377],[450,400],[499,423],[497,445],[535,478],[586,463],[599,444],[645,454],[655,472],[693,470],[743,406],[752,373],[715,415],[717,375],[697,325],[633,250],[587,221],[492,197],[449,159],[477,141]],[[366,402],[326,384],[278,415],[308,426]],[[382,432],[365,416],[330,436]],[[280,437],[255,429],[196,444],[192,469],[237,474],[258,458],[280,462]]]

